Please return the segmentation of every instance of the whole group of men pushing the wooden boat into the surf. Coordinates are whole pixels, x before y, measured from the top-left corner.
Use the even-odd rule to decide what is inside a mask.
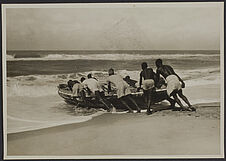
[[[163,65],[161,59],[157,59],[156,62],[156,73],[152,68],[148,67],[146,62],[141,64],[142,71],[140,72],[140,81],[138,91],[142,88],[144,91],[145,102],[147,103],[147,114],[152,114],[153,109],[151,106],[154,104],[153,96],[155,94],[156,87],[162,84],[166,85],[167,100],[171,102],[171,106],[174,107],[177,103],[182,110],[195,111],[195,108],[190,104],[186,96],[182,92],[182,88],[185,87],[183,80],[174,72],[173,68],[169,65]],[[108,78],[106,80],[108,85],[108,92],[112,90],[112,84],[116,88],[117,98],[122,102],[122,104],[127,107],[128,112],[133,113],[133,109],[127,104],[128,101],[134,104],[137,112],[141,112],[141,109],[137,105],[136,101],[131,97],[131,89],[129,86],[135,87],[135,82],[130,79],[130,77],[122,78],[120,75],[115,74],[114,69],[109,69]],[[161,76],[165,79],[163,79]],[[166,83],[165,83],[166,81]],[[108,111],[114,111],[115,107],[107,100],[104,96],[103,86],[99,81],[92,77],[91,74],[81,78],[81,83],[78,81],[74,82],[73,86],[69,84],[73,95],[80,96],[83,101],[86,101],[85,91],[89,94],[94,94],[95,98],[99,100],[106,107]],[[85,90],[84,90],[85,89]],[[170,98],[170,97],[173,97]],[[185,107],[178,96],[188,105]],[[174,102],[172,104],[172,102]]]

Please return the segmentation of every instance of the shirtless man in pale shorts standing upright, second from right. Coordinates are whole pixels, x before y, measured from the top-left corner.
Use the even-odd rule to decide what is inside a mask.
[[[146,62],[141,64],[142,71],[140,72],[140,83],[139,89],[141,89],[142,79],[143,81],[143,90],[144,97],[147,103],[147,114],[152,114],[153,109],[151,109],[151,104],[153,104],[153,93],[155,88],[155,73],[152,68],[148,68]]]

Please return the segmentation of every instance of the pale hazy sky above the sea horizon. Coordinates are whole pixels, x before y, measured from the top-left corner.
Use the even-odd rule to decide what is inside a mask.
[[[222,3],[6,7],[7,50],[218,50]]]

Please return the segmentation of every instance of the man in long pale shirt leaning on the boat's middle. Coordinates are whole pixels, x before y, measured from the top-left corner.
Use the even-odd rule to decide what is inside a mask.
[[[130,100],[136,106],[137,112],[141,112],[141,109],[138,107],[137,103],[130,96],[131,91],[129,89],[129,85],[123,80],[123,78],[119,75],[115,75],[114,69],[112,68],[109,69],[108,74],[108,91],[111,91],[111,83],[114,84],[117,89],[118,99],[129,109],[129,112],[133,113],[133,110],[126,103],[126,100]]]

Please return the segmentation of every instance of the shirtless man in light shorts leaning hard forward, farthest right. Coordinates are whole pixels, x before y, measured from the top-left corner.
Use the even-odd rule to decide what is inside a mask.
[[[157,71],[157,80],[160,78],[160,74],[166,79],[167,82],[167,94],[168,96],[173,96],[178,105],[184,109],[189,111],[195,111],[196,109],[192,107],[188,99],[183,95],[182,88],[185,87],[184,81],[174,72],[173,68],[169,65],[163,65],[161,59],[157,59],[155,61]],[[177,97],[179,95],[180,98],[188,105],[188,108],[184,107],[181,103],[180,99]]]

